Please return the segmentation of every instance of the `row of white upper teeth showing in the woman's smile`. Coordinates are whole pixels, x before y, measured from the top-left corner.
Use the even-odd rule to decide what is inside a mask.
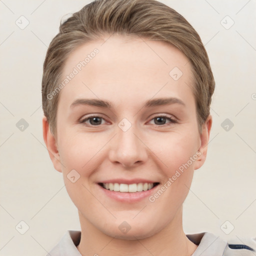
[[[149,190],[153,187],[153,183],[133,183],[133,184],[123,184],[123,183],[103,183],[103,187],[110,191],[116,192],[141,192]]]

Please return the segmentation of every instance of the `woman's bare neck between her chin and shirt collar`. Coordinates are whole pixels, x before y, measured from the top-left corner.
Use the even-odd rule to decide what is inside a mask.
[[[182,228],[182,206],[171,222],[158,233],[143,239],[125,240],[111,237],[93,226],[80,212],[81,239],[77,245],[82,256],[190,256],[197,245]]]

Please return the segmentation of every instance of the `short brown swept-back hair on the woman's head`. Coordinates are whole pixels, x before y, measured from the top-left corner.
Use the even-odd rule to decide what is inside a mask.
[[[172,8],[156,0],[94,0],[60,24],[43,63],[42,108],[52,134],[56,132],[58,94],[54,91],[69,54],[81,44],[113,33],[138,35],[176,46],[189,59],[194,84],[198,129],[209,115],[215,82],[198,33]]]

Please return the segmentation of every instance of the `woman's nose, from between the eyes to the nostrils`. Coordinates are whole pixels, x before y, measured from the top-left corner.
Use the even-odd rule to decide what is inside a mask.
[[[111,140],[109,160],[126,168],[137,166],[146,161],[147,147],[135,125],[124,131],[117,126],[117,134]]]

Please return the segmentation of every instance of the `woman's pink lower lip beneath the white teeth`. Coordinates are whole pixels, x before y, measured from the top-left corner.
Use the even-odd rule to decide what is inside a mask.
[[[158,184],[159,185],[159,184]],[[158,185],[152,187],[149,190],[141,191],[141,192],[119,192],[119,191],[111,191],[109,189],[103,188],[101,185],[98,186],[101,190],[110,198],[113,198],[117,201],[122,202],[136,202],[142,200],[146,197],[149,197],[152,193],[154,193],[155,189],[157,189]]]

